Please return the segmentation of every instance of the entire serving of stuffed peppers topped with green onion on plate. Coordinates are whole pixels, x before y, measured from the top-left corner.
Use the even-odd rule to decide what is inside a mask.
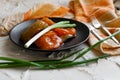
[[[66,40],[75,37],[76,29],[73,28],[75,26],[75,24],[70,24],[69,21],[55,23],[49,18],[42,18],[22,33],[21,40],[26,43],[25,46],[27,47],[34,42],[42,50],[57,49]]]

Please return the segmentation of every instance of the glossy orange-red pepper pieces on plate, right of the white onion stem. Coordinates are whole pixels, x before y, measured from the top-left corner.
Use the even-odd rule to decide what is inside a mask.
[[[70,31],[73,30],[71,33]],[[35,41],[35,44],[43,50],[53,50],[59,48],[67,39],[74,37],[74,28],[55,28]]]

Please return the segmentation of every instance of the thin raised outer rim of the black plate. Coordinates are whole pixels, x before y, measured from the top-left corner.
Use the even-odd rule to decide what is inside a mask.
[[[37,19],[40,19],[40,18],[37,18]],[[37,19],[31,19],[31,20],[27,20],[27,21],[32,21],[32,20],[37,20]],[[79,21],[74,20],[74,19],[60,18],[60,17],[52,17],[51,19],[65,19],[65,20],[71,20],[71,21],[79,22]],[[75,45],[69,46],[69,47],[64,48],[64,49],[63,49],[63,48],[62,48],[62,49],[59,49],[59,48],[58,48],[58,49],[54,49],[54,50],[42,50],[42,49],[25,48],[24,46],[17,44],[17,43],[12,39],[11,33],[12,33],[12,31],[16,28],[17,25],[19,25],[19,24],[21,24],[21,23],[24,23],[24,22],[27,22],[27,21],[22,21],[22,22],[16,24],[16,25],[10,30],[10,32],[9,32],[9,39],[10,39],[14,44],[16,44],[17,46],[22,47],[23,49],[27,49],[27,50],[42,51],[42,52],[64,51],[64,50],[68,50],[68,49],[71,49],[71,48],[74,48],[74,47],[77,47],[77,46],[83,44],[84,42],[86,42],[86,41],[88,40],[89,35],[90,35],[90,29],[88,28],[88,26],[87,26],[85,23],[83,23],[83,22],[79,22],[79,23],[83,24],[84,26],[86,26],[86,28],[88,29],[88,35],[87,35],[86,39],[84,39],[83,41],[81,41],[79,44],[75,44]],[[64,45],[64,44],[63,44],[63,45]]]

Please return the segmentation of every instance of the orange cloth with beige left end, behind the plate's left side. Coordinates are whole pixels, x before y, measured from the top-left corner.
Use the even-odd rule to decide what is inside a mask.
[[[0,36],[8,35],[14,25],[22,21],[42,17],[63,17],[68,13],[68,11],[68,7],[60,5],[53,5],[49,3],[45,3],[43,5],[37,4],[25,13],[13,14],[4,18],[0,26]]]

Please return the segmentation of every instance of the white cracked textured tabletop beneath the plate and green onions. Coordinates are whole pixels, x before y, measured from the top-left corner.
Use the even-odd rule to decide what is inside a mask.
[[[6,16],[25,12],[33,5],[43,2],[66,5],[69,0],[0,0],[0,22]],[[24,59],[41,59],[39,53],[24,51],[16,47],[8,37],[0,38],[0,56]],[[86,58],[91,57],[90,53]],[[120,80],[120,56],[99,60],[84,67],[60,70],[0,69],[0,80]]]

